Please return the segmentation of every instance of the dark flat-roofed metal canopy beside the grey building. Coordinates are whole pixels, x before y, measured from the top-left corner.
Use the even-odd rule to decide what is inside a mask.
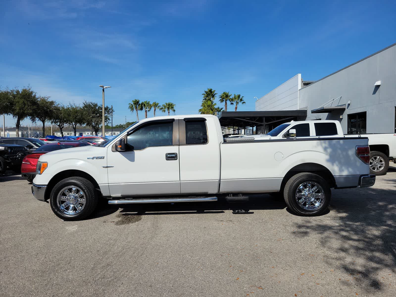
[[[222,127],[237,127],[238,129],[256,127],[256,131],[257,128],[265,127],[272,130],[291,120],[305,120],[307,110],[223,111],[217,117]]]

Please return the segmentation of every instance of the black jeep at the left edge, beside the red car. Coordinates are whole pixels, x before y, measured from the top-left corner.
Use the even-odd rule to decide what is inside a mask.
[[[23,157],[27,154],[26,148],[21,145],[0,144],[0,175],[6,173],[7,168],[19,172]]]

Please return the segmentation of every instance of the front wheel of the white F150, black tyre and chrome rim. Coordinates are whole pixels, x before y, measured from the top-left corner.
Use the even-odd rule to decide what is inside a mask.
[[[53,187],[49,203],[55,215],[65,221],[85,219],[95,210],[98,197],[88,179],[69,177]]]

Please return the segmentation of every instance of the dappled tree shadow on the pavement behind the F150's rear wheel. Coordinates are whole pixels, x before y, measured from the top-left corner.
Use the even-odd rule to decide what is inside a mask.
[[[389,285],[383,282],[383,270],[396,272],[395,181],[385,178],[383,183],[393,188],[333,190],[330,208],[337,213],[335,220],[306,219],[294,232],[300,238],[320,238],[327,264],[356,276],[367,293]]]

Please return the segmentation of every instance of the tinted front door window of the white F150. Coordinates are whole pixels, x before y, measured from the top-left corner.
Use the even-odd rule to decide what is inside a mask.
[[[153,123],[133,131],[127,137],[128,150],[172,145],[173,122]]]

